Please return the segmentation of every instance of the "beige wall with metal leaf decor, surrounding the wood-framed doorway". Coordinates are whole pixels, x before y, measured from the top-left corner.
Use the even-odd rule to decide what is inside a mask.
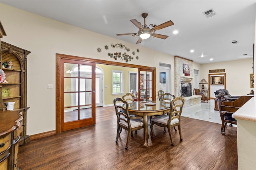
[[[108,52],[113,53],[118,50],[123,53],[123,51],[113,50],[110,45],[123,43],[130,48],[130,55],[132,51],[140,49],[139,59],[133,59],[128,63],[156,67],[156,73],[159,72],[160,62],[174,67],[173,55],[83,30],[6,4],[0,3],[0,16],[7,34],[1,40],[31,51],[27,57],[27,105],[30,107],[27,116],[28,135],[56,129],[56,53],[115,61],[107,55]],[[105,45],[110,47],[108,51],[104,49]],[[97,52],[98,47],[102,48],[101,53]],[[117,62],[124,61],[118,59]],[[172,71],[172,77],[174,77],[174,71]],[[159,74],[156,74],[156,80],[159,80]],[[46,88],[48,83],[53,84],[53,89]],[[172,81],[172,88],[174,91],[174,81]],[[158,83],[156,83],[156,89],[159,89]],[[105,99],[105,102],[107,101],[108,99]]]

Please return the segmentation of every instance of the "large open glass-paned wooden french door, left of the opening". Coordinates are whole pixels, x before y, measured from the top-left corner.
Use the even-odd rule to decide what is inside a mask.
[[[94,125],[95,63],[62,59],[60,74],[61,131]]]

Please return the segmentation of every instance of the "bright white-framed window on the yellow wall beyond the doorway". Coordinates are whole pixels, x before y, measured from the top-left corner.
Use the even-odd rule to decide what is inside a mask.
[[[112,70],[112,94],[123,93],[123,73],[124,71]]]

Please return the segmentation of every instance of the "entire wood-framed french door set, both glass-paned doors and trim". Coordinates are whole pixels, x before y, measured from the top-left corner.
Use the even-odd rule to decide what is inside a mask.
[[[56,53],[56,134],[96,123],[95,107],[96,103],[101,103],[99,97],[102,97],[97,91],[102,91],[100,88],[103,87],[103,81],[100,83],[102,85],[98,84],[102,79],[96,80],[96,63],[137,68],[138,73],[145,76],[138,79],[138,83],[145,83],[142,88],[140,85],[138,87],[139,97],[141,91],[141,95],[144,95],[142,100],[149,97],[156,99],[155,67]],[[97,87],[96,82],[100,87]]]

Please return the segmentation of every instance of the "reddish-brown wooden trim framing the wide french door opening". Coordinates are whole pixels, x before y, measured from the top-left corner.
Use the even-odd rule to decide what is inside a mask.
[[[153,71],[154,74],[154,87],[153,87],[153,97],[156,99],[156,67],[148,67],[148,66],[142,66],[142,65],[135,65],[135,64],[128,64],[128,63],[120,63],[120,62],[114,62],[114,61],[106,61],[101,59],[92,59],[92,58],[86,58],[86,57],[78,57],[74,55],[66,55],[66,54],[59,54],[56,53],[56,134],[61,133],[61,109],[60,109],[60,98],[61,98],[61,90],[60,90],[60,61],[61,59],[70,59],[70,60],[76,60],[76,61],[85,61],[85,62],[91,62],[91,63],[97,63],[97,64],[106,64],[106,65],[116,65],[116,66],[122,66],[122,67],[131,67],[131,68],[138,68],[138,69],[149,69]]]

